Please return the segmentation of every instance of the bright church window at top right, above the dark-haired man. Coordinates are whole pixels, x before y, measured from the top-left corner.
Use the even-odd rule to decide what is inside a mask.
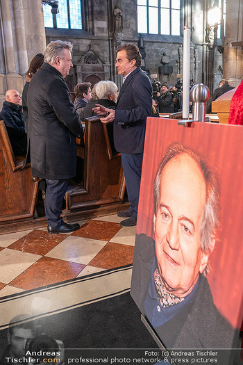
[[[137,0],[137,33],[180,35],[180,0]]]

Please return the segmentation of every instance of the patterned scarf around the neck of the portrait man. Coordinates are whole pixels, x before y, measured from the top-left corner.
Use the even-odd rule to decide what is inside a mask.
[[[169,293],[165,285],[162,284],[162,279],[160,277],[160,273],[158,272],[158,268],[156,268],[153,274],[153,279],[154,279],[154,284],[156,284],[156,292],[158,300],[160,301],[160,305],[163,308],[170,307],[171,305],[183,302],[184,298],[180,298],[174,295],[173,293]]]

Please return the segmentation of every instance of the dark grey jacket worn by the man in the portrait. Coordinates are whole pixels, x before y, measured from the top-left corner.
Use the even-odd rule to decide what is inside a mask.
[[[151,270],[156,259],[153,238],[136,237],[131,295],[144,314]],[[214,305],[208,280],[200,275],[194,300],[164,325],[155,327],[167,348],[232,348],[235,331]]]

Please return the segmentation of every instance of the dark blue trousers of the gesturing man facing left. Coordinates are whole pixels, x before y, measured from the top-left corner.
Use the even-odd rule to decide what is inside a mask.
[[[140,196],[142,156],[142,152],[140,154],[121,154],[128,200],[131,204],[129,211],[131,211],[135,217],[137,217],[138,198]]]

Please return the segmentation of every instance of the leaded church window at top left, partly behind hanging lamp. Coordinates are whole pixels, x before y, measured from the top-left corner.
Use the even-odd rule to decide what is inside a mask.
[[[58,0],[58,10],[57,14],[51,13],[51,6],[43,1],[45,27],[82,29],[81,0]]]

